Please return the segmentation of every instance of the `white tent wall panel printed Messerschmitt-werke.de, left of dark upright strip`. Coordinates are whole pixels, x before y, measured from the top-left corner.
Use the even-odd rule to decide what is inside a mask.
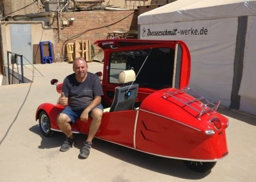
[[[191,88],[229,106],[237,25],[237,17],[140,25],[140,39],[184,41],[191,52]]]

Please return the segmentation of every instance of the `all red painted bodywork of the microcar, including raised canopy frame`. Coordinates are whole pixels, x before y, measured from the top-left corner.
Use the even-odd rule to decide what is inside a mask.
[[[176,159],[216,161],[228,154],[225,132],[228,119],[200,99],[179,91],[189,85],[190,77],[191,59],[184,42],[114,39],[96,41],[95,44],[104,50],[102,100],[107,106],[112,103],[114,88],[120,86],[111,83],[113,53],[136,50],[145,52],[163,47],[180,51],[180,70],[176,74],[178,81],[172,81],[173,86],[168,88],[140,86],[137,97],[139,107],[134,110],[104,112],[96,137],[156,156]],[[170,94],[176,92],[176,95]],[[44,103],[37,108],[36,119],[43,110],[50,118],[51,129],[59,130],[56,118],[63,108]],[[88,122],[78,120],[72,125],[72,131],[88,134],[90,123],[91,119]]]

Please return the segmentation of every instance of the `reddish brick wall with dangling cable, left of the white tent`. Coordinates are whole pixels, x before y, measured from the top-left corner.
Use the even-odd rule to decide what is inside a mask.
[[[54,25],[54,53],[56,61],[67,57],[66,43],[74,43],[77,40],[90,40],[93,44],[99,39],[106,39],[107,34],[112,31],[129,31],[138,28],[138,12],[134,10],[127,11],[86,11],[86,12],[63,12],[61,21],[69,21],[69,24],[63,26],[58,33],[58,21],[55,17]],[[70,18],[74,17],[71,22]],[[84,34],[83,34],[84,33]],[[78,36],[79,34],[82,34]],[[78,37],[74,37],[74,36]],[[71,39],[74,37],[74,39]],[[99,48],[94,46],[97,53]]]

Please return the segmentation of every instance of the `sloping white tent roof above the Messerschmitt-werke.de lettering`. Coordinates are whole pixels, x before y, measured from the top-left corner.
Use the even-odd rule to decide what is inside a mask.
[[[217,19],[242,15],[256,15],[256,0],[178,0],[139,15],[138,24]]]

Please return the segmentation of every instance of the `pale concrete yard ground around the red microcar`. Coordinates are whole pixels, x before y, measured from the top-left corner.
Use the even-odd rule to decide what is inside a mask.
[[[89,63],[91,72],[103,64]],[[78,159],[78,146],[59,152],[64,135],[44,137],[35,112],[41,103],[56,103],[59,94],[50,79],[72,72],[68,63],[25,66],[33,83],[0,86],[0,181],[255,181],[256,119],[220,108],[229,118],[229,155],[206,174],[186,168],[182,161],[151,156],[94,139],[88,159]]]

